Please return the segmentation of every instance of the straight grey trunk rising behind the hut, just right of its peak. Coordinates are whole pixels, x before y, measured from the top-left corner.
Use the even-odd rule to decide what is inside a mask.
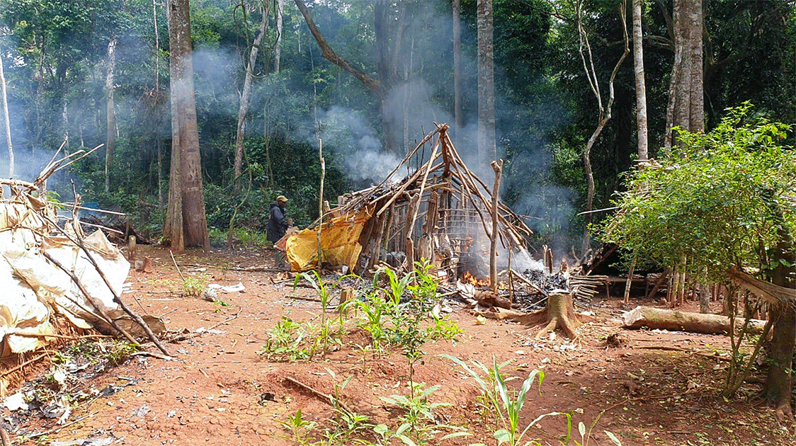
[[[478,162],[497,159],[492,0],[478,0]]]

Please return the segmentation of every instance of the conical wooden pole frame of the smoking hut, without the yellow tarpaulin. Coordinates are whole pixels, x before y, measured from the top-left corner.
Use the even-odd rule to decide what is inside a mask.
[[[358,254],[354,272],[369,272],[381,261],[392,260],[396,253],[404,268],[411,268],[416,260],[426,259],[434,264],[439,276],[455,273],[462,257],[474,254],[479,243],[488,241],[492,234],[493,191],[482,182],[458,155],[447,135],[447,124],[437,124],[422,141],[410,151],[387,178],[378,186],[345,194],[339,207],[330,211],[332,216],[369,215],[361,228]],[[395,181],[402,167],[411,171],[413,159],[431,144],[431,156],[412,174]],[[416,162],[419,164],[419,162]],[[513,252],[525,250],[525,237],[531,229],[521,217],[501,201],[497,201],[497,234],[501,245]],[[323,229],[322,229],[323,230]],[[480,237],[481,235],[485,237]],[[487,244],[488,245],[488,244]],[[480,263],[487,257],[481,257]]]

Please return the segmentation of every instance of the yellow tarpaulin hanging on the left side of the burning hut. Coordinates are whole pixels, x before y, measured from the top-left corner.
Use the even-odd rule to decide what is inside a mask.
[[[332,266],[347,265],[349,271],[357,265],[362,252],[359,236],[373,215],[372,207],[362,209],[357,215],[343,215],[324,222],[321,231],[323,262]],[[287,261],[292,271],[306,271],[318,265],[318,230],[304,229],[288,237]]]

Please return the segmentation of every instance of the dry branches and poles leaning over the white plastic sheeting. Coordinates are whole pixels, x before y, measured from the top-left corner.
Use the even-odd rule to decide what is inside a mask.
[[[100,145],[91,151],[76,151],[70,155],[65,155],[62,158],[57,158],[57,156],[60,154],[60,151],[63,149],[64,144],[62,144],[58,151],[56,151],[55,155],[53,155],[53,158],[50,159],[47,166],[45,166],[44,170],[41,171],[41,174],[37,176],[35,181],[25,182],[18,179],[0,178],[0,202],[2,202],[3,205],[6,205],[6,213],[4,213],[5,221],[2,221],[2,227],[6,228],[4,230],[18,228],[29,229],[36,234],[37,240],[40,241],[40,246],[37,250],[37,253],[41,254],[41,256],[44,256],[50,264],[53,264],[56,268],[60,269],[70,277],[72,283],[75,284],[76,288],[80,290],[80,293],[85,296],[86,302],[91,307],[84,307],[84,310],[96,315],[97,318],[101,319],[107,324],[107,326],[111,327],[113,331],[119,333],[124,338],[127,338],[127,341],[135,345],[139,345],[139,341],[131,334],[131,331],[144,333],[146,338],[148,338],[149,341],[154,344],[154,346],[158,347],[158,350],[161,350],[163,354],[168,355],[169,353],[166,350],[166,347],[163,346],[155,336],[150,328],[149,323],[142,319],[140,315],[136,314],[134,311],[131,311],[131,309],[127,307],[127,305],[121,299],[119,292],[117,292],[111,285],[111,282],[108,280],[106,274],[96,261],[96,252],[92,252],[92,250],[89,250],[86,247],[86,244],[84,243],[84,233],[81,229],[80,220],[78,217],[79,210],[81,209],[80,195],[76,194],[74,184],[72,184],[72,191],[74,192],[75,200],[71,203],[71,217],[58,215],[57,210],[53,206],[53,202],[48,201],[46,198],[47,179],[50,177],[50,175],[54,174],[58,170],[64,169],[73,162],[78,161],[80,158],[90,155],[93,151],[96,151],[102,147]],[[10,190],[9,198],[4,196],[2,186],[8,186]],[[64,222],[60,223],[59,218],[64,220]],[[129,316],[129,321],[120,320],[119,318],[109,315],[103,304],[96,299],[94,295],[92,295],[91,291],[88,291],[85,288],[84,284],[80,280],[80,277],[76,276],[75,272],[72,271],[71,268],[68,268],[68,266],[60,263],[59,260],[47,252],[44,247],[44,241],[48,237],[54,236],[64,237],[80,249],[82,256],[85,256],[92,267],[95,268],[105,286],[107,286],[107,288],[111,291],[114,303],[118,304],[121,310],[127,314],[127,316]],[[80,303],[76,303],[76,305],[80,306]],[[140,327],[140,330],[136,329],[136,327]],[[45,338],[46,337],[47,335],[45,335]]]

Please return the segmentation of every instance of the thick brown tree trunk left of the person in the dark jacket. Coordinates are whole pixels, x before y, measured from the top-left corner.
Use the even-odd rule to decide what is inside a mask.
[[[209,248],[205,194],[201,178],[196,100],[193,96],[193,56],[188,0],[170,0],[169,2],[169,42],[172,126],[176,123],[176,136],[178,137],[175,143],[173,127],[172,157],[178,156],[179,169],[178,172],[174,172],[174,159],[172,159],[172,178],[169,191],[170,211],[166,217],[177,218],[176,213],[173,212],[177,207],[176,202],[172,203],[174,198],[175,201],[181,201],[182,221],[181,225],[177,225],[177,221],[167,221],[166,224],[169,225],[172,234],[175,230],[181,231],[185,246]],[[177,181],[174,177],[179,178],[178,189],[181,200],[177,199],[178,193],[172,190]],[[166,233],[165,230],[164,233]],[[171,241],[174,243],[174,238]]]

